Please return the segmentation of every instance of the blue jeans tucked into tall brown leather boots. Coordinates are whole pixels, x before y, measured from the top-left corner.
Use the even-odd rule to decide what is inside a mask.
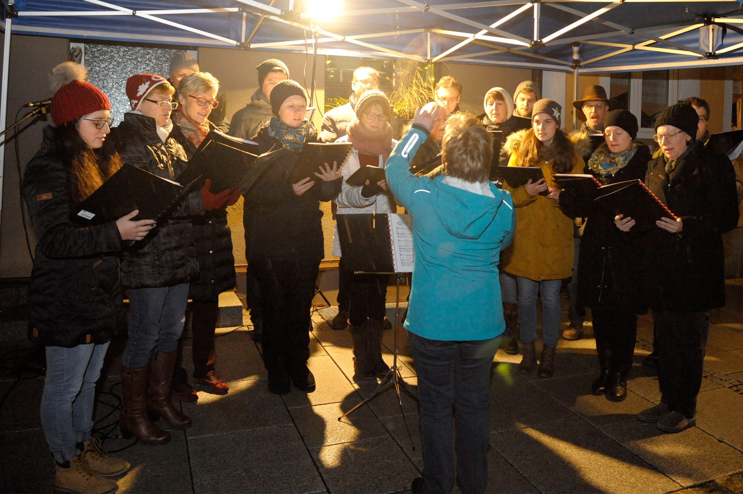
[[[129,340],[121,364],[129,369],[144,367],[158,353],[175,352],[184,332],[189,283],[154,289],[132,289],[129,297]]]

